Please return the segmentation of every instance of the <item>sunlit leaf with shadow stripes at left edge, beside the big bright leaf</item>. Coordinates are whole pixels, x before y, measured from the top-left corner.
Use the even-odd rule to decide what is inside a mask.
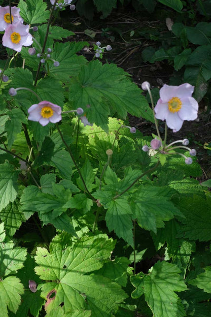
[[[4,225],[0,227],[0,277],[15,274],[17,270],[23,267],[23,262],[26,257],[26,249],[15,247],[12,241],[4,242]],[[2,280],[1,280],[2,281]],[[0,281],[0,284],[1,284]]]

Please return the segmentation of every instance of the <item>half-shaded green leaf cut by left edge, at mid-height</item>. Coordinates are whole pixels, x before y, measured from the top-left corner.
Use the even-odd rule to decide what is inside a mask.
[[[16,199],[18,174],[8,162],[0,164],[0,211]]]

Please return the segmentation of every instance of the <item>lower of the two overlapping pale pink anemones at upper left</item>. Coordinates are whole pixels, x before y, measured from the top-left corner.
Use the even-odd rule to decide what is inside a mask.
[[[2,41],[4,46],[17,52],[21,51],[22,46],[30,46],[33,43],[32,36],[29,33],[29,26],[23,25],[21,21],[10,24],[6,28]]]

